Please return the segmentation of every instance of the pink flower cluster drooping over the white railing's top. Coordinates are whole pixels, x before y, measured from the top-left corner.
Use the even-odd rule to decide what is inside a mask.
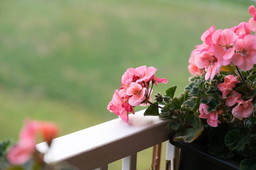
[[[157,86],[158,83],[168,83],[165,78],[155,77],[156,70],[155,67],[146,66],[127,69],[122,76],[120,90],[115,90],[112,101],[108,104],[108,111],[128,122],[128,113],[134,114],[133,107],[151,102],[150,94],[154,84]]]

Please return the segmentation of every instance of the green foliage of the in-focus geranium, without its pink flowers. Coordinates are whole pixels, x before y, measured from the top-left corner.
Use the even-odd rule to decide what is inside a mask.
[[[226,98],[222,98],[222,92],[217,88],[218,84],[224,83],[226,75],[238,75],[237,70],[229,70],[231,71],[214,76],[213,80],[205,80],[204,74],[193,76],[179,97],[175,97],[177,86],[168,88],[164,95],[158,93],[155,95],[155,104],[162,106],[161,111],[151,105],[144,115],[169,118],[171,121],[167,128],[176,130],[174,141],[199,141],[204,131],[204,134],[207,134],[204,137],[209,141],[207,147],[210,154],[218,158],[236,159],[241,162],[241,169],[248,169],[247,164],[256,167],[256,68],[241,71],[242,78],[239,77],[240,82],[233,88],[241,94],[241,100],[253,99],[253,114],[241,120],[232,114],[232,109],[237,104],[227,106]],[[208,113],[223,111],[218,115],[219,123],[216,128],[209,126],[206,119],[199,117],[200,104],[208,105]]]

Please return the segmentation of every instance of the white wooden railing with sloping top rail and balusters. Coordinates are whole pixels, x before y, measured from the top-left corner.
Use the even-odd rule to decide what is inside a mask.
[[[168,141],[174,133],[166,129],[170,120],[143,116],[143,113],[144,110],[130,114],[129,123],[117,118],[53,139],[48,151],[45,142],[36,147],[46,153],[47,163],[64,160],[79,169],[105,170],[109,163],[123,159],[122,169],[133,170],[136,169],[137,152]],[[167,142],[166,159],[171,162],[177,154],[174,148]]]

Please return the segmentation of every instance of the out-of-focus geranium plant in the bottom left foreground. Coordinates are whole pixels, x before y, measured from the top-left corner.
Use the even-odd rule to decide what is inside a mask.
[[[53,122],[48,121],[24,121],[19,133],[19,141],[10,140],[0,142],[0,169],[73,169],[76,168],[64,162],[47,164],[44,162],[44,154],[36,149],[38,139],[46,141],[48,149],[52,139],[57,137],[59,128]]]

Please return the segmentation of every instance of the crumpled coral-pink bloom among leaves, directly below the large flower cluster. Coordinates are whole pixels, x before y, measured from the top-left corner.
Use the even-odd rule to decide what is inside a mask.
[[[232,74],[226,75],[224,83],[218,84],[217,88],[222,92],[222,98],[225,98],[236,87],[236,83],[239,82],[237,78],[238,76]]]

